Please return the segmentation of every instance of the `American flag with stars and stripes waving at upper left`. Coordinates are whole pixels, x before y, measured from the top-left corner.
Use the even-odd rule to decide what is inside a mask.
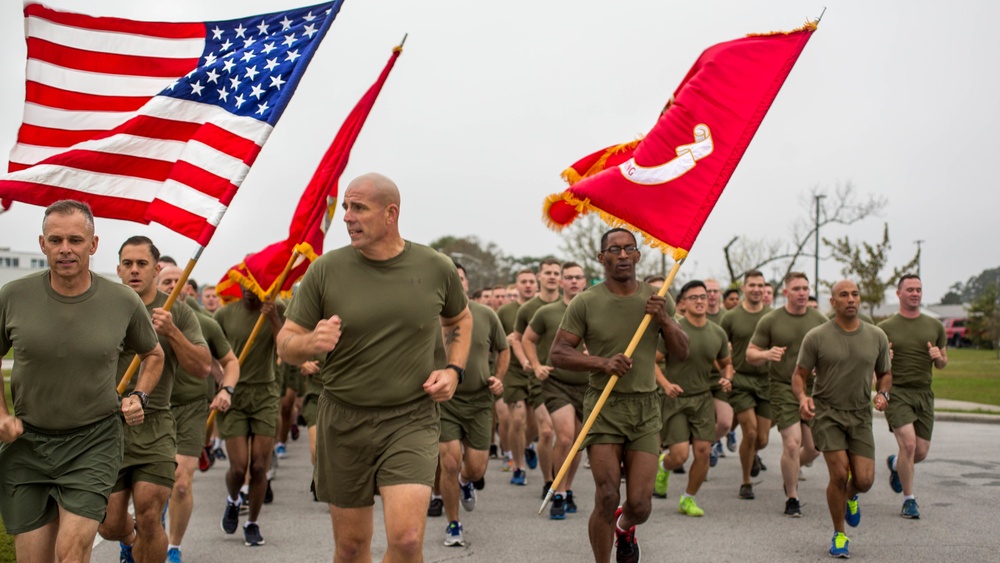
[[[207,244],[342,2],[196,23],[25,6],[2,207],[78,199]]]

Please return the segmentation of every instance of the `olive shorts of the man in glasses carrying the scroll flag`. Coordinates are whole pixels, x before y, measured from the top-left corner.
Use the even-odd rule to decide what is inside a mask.
[[[601,391],[587,386],[583,398],[584,419],[590,416]],[[660,454],[660,398],[649,393],[614,393],[608,396],[601,413],[583,440],[594,444],[624,444],[626,450]]]

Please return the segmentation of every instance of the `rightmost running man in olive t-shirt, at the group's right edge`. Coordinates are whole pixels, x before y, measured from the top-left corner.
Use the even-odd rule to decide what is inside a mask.
[[[941,321],[920,312],[923,284],[906,274],[896,286],[899,313],[879,323],[892,347],[892,390],[885,411],[889,430],[896,436],[899,453],[886,460],[889,485],[903,493],[903,518],[920,518],[913,495],[914,464],[927,458],[934,430],[933,368],[948,365],[948,343]]]

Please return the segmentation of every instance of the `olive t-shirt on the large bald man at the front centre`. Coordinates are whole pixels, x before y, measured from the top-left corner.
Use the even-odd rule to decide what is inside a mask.
[[[339,315],[340,340],[323,364],[324,391],[349,405],[388,407],[427,396],[440,318],[458,316],[467,303],[454,263],[406,241],[388,260],[369,260],[350,246],[319,257],[287,318],[312,330]]]

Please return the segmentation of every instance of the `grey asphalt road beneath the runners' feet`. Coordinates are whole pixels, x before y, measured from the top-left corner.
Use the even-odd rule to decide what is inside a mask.
[[[899,517],[901,495],[891,491],[885,457],[895,441],[885,421],[875,419],[877,459],[872,491],[861,498],[862,521],[848,528],[851,555],[868,561],[997,561],[1000,560],[1000,427],[995,424],[939,421],[929,459],[917,469],[917,500],[922,518]],[[813,561],[827,560],[833,528],[827,512],[827,475],[822,459],[805,470],[800,483],[803,518],[783,516],[784,496],[778,467],[780,436],[771,433],[762,452],[768,471],[756,479],[756,500],[737,499],[739,461],[721,459],[698,494],[702,518],[677,513],[686,475],[671,479],[669,498],[653,499],[653,514],[639,528],[643,561]],[[224,462],[222,462],[224,463]],[[267,545],[245,547],[242,531],[225,535],[219,526],[224,507],[224,469],[216,465],[195,477],[195,513],[183,545],[184,560],[240,563],[331,561],[333,537],[326,506],[311,500],[308,443],[289,446],[273,482],[274,503],[260,518]],[[491,461],[486,488],[472,513],[462,512],[466,547],[445,547],[444,518],[428,518],[424,556],[427,561],[589,561],[587,518],[594,486],[581,466],[574,486],[580,512],[566,520],[536,516],[542,481],[529,471],[528,486],[508,483],[509,474]],[[547,514],[547,513],[546,513]],[[375,505],[374,560],[385,552],[381,505]],[[242,519],[241,519],[242,523]],[[115,561],[117,544],[101,542],[94,561]]]

